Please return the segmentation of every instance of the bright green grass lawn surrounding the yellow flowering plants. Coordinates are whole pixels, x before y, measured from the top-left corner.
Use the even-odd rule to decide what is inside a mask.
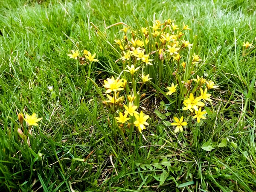
[[[242,43],[256,37],[255,9],[254,0],[2,0],[0,189],[256,191],[256,49],[242,56]],[[101,31],[118,22],[136,27],[132,13],[140,23],[145,23],[143,17],[155,17],[188,24],[193,29],[188,39],[198,35],[196,52],[204,60],[196,74],[214,80],[220,89],[213,93],[215,112],[193,134],[172,134],[173,127],[154,114],[156,107],[166,113],[165,106],[149,99],[146,140],[139,135],[130,152],[122,137],[116,150],[106,135],[111,129],[102,99],[85,78],[86,70],[67,54],[76,49],[74,44],[96,52],[99,63],[91,77],[103,90],[98,79],[119,74],[114,61],[120,56],[105,42],[104,49],[100,46],[90,22]],[[107,29],[112,44],[122,37],[120,29]],[[51,85],[55,99],[47,88]],[[17,113],[25,111],[43,118],[33,127],[30,147],[17,133]],[[227,137],[230,142],[223,148],[201,148]],[[166,176],[162,185],[161,175]]]

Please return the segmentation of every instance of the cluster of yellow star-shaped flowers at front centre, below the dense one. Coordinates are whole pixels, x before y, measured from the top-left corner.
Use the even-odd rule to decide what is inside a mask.
[[[128,69],[129,70],[126,71],[131,73],[132,76],[138,70],[138,68],[135,69],[134,66],[128,67]],[[142,79],[145,83],[149,81],[150,78],[148,78],[148,75],[143,75]],[[142,130],[145,129],[145,125],[149,125],[148,122],[146,122],[149,116],[145,115],[143,111],[140,111],[140,113],[137,112],[140,102],[140,92],[138,91],[136,96],[134,96],[134,93],[132,93],[132,95],[127,94],[129,90],[127,81],[119,78],[114,79],[113,76],[111,79],[108,78],[107,80],[104,80],[103,87],[107,89],[105,93],[108,97],[108,100],[103,101],[103,104],[106,105],[109,111],[113,114],[119,127],[125,131],[125,125],[135,125],[140,133],[142,133]],[[123,90],[125,90],[126,105],[124,105],[125,96],[120,96],[122,94],[121,91]],[[117,116],[117,114],[119,116]],[[133,116],[135,117],[135,120],[134,118],[131,118]]]

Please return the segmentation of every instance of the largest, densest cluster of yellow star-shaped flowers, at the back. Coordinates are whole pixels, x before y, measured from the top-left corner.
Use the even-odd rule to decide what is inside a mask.
[[[125,27],[123,31],[123,39],[116,39],[115,44],[122,51],[123,56],[119,58],[124,63],[128,63],[129,67],[142,66],[147,69],[153,66],[159,69],[159,80],[162,80],[163,62],[169,64],[171,61],[180,63],[182,55],[180,52],[186,48],[191,48],[192,44],[184,39],[185,31],[191,30],[189,26],[183,23],[183,27],[179,27],[173,20],[165,20],[160,22],[155,20],[152,26],[142,27],[140,31],[131,27]],[[130,35],[131,34],[131,35]],[[192,55],[192,64],[197,64],[202,60],[198,55]],[[183,62],[183,67],[186,63]]]

